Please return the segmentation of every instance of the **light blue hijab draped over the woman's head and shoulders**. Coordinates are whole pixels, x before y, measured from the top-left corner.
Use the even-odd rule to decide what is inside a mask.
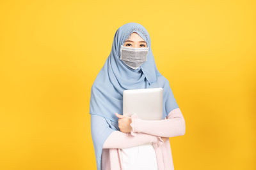
[[[120,60],[120,46],[132,32],[138,33],[149,47],[147,61],[138,69],[128,67]],[[91,132],[95,149],[97,169],[101,167],[104,141],[113,131],[120,131],[115,113],[122,115],[123,91],[127,89],[163,88],[163,119],[175,108],[179,108],[169,81],[159,73],[151,50],[148,31],[138,23],[122,25],[115,32],[111,52],[91,89],[90,114]]]

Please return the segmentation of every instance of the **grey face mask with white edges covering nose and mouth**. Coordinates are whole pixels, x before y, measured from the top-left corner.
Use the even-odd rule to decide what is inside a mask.
[[[120,59],[132,69],[138,69],[144,62],[147,61],[148,47],[132,48],[121,45]]]

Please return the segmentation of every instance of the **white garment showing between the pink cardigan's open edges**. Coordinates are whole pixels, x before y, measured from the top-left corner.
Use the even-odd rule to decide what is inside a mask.
[[[156,152],[151,143],[120,151],[123,170],[157,170]]]

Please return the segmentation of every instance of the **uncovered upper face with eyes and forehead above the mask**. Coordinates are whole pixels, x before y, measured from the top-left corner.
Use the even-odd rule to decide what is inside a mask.
[[[132,48],[145,48],[147,47],[147,42],[139,36],[136,32],[132,32],[130,37],[124,42],[124,46]]]

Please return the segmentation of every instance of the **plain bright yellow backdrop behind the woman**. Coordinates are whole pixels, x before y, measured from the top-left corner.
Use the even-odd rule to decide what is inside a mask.
[[[90,88],[142,24],[186,134],[174,167],[256,169],[255,1],[1,1],[0,169],[96,169]]]

